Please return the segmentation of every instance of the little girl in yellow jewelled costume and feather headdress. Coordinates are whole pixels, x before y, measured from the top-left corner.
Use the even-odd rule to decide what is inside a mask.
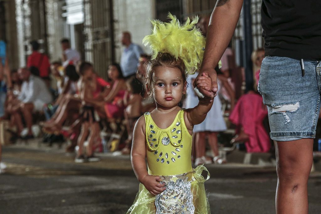
[[[191,147],[193,126],[205,119],[213,98],[200,98],[190,109],[178,106],[186,97],[187,74],[195,72],[202,59],[204,38],[194,27],[197,17],[182,26],[169,17],[166,24],[152,21],[153,34],[143,40],[154,53],[145,85],[156,109],[141,116],[134,127],[131,160],[141,184],[127,213],[210,213],[201,175],[206,168],[192,168]],[[211,79],[203,74],[197,86],[211,87]]]

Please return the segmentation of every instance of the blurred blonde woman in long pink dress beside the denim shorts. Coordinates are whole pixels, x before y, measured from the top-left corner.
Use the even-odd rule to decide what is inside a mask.
[[[260,68],[264,58],[264,49],[257,49],[252,54],[253,63]],[[255,73],[257,88],[260,70]],[[250,91],[242,95],[231,112],[230,121],[237,125],[237,135],[232,142],[244,142],[247,152],[268,152],[271,142],[266,132],[263,120],[267,116],[267,109],[260,94]]]

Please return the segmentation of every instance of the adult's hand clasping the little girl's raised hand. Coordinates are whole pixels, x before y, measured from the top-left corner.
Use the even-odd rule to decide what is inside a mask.
[[[214,98],[216,96],[216,92],[218,90],[217,87],[217,73],[215,71],[215,69],[201,69],[199,74],[197,75],[193,86],[196,87],[196,82],[198,81],[198,78],[200,78],[202,76],[202,74],[205,73],[207,74],[211,80],[212,80],[212,89],[204,87],[204,88],[199,88],[199,91],[205,96],[205,97],[209,97],[209,98]]]

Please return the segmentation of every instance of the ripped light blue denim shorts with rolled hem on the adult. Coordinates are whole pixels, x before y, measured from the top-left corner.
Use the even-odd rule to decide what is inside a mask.
[[[315,138],[320,111],[321,63],[267,56],[263,59],[258,91],[267,106],[274,141]]]

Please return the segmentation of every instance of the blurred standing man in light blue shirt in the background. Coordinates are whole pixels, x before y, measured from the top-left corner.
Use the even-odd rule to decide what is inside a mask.
[[[121,42],[125,49],[120,59],[120,67],[123,76],[129,78],[137,72],[138,59],[143,54],[143,49],[132,43],[129,32],[123,32]]]

